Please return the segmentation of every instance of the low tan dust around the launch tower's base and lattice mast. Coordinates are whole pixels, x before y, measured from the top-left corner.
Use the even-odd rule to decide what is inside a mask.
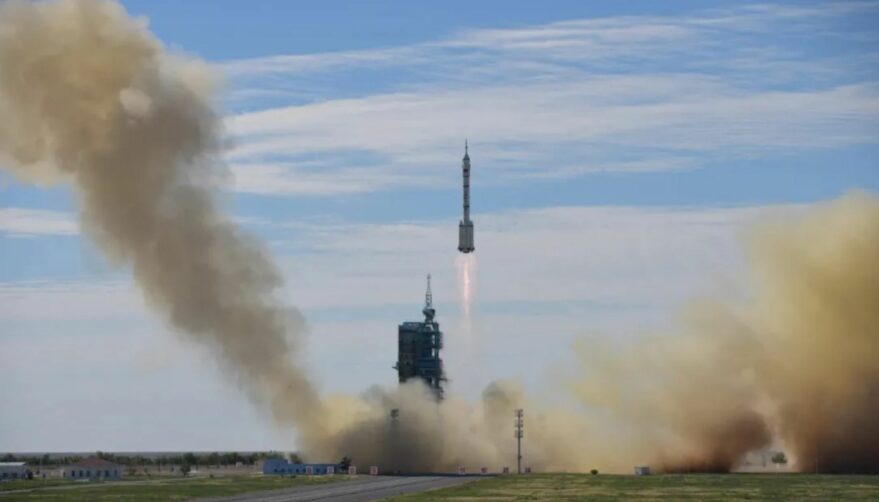
[[[425,385],[407,382],[394,390],[371,389],[360,398],[329,399],[326,405],[328,416],[346,417],[348,423],[312,445],[306,453],[316,458],[348,455],[358,465],[378,465],[383,472],[515,467],[512,417],[516,408],[525,407],[526,465],[544,470],[588,468],[590,455],[581,446],[588,444],[582,420],[562,409],[541,411],[511,381],[492,383],[477,402],[449,396],[437,404]],[[393,409],[399,412],[396,419],[390,417]]]

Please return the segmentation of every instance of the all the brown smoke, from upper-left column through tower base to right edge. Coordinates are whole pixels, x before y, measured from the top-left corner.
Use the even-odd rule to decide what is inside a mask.
[[[536,469],[728,471],[776,446],[804,471],[879,471],[875,196],[759,225],[748,301],[695,302],[675,333],[632,344],[584,337],[579,368],[559,382],[568,407],[515,382],[478,402],[437,404],[417,383],[321,398],[268,251],[220,210],[213,86],[204,64],[166,52],[114,2],[0,6],[0,165],[71,182],[83,231],[107,259],[292,426],[307,457],[406,472],[513,466],[513,410],[525,408]]]

